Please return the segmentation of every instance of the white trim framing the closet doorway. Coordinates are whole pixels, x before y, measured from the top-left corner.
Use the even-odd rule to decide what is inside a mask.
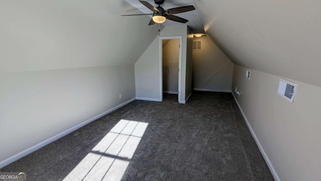
[[[181,81],[182,81],[182,44],[183,36],[159,37],[159,98],[163,101],[163,40],[180,39],[179,58],[179,100],[181,101]]]

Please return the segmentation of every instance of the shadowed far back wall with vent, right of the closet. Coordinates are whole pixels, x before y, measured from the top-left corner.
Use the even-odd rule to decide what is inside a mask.
[[[231,91],[233,62],[209,37],[194,37],[194,41],[202,41],[202,49],[193,50],[193,88]]]

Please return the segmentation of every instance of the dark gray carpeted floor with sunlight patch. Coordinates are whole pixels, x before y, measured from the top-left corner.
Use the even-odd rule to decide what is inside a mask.
[[[28,180],[273,180],[230,93],[134,101],[0,169]]]

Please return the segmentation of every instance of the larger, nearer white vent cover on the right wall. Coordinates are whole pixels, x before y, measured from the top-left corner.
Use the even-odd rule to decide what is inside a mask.
[[[293,103],[296,86],[296,83],[280,78],[277,94]]]

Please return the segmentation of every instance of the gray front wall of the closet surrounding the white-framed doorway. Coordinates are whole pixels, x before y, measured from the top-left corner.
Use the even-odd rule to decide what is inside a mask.
[[[182,36],[182,77],[181,100],[185,101],[186,89],[186,56],[187,56],[187,26],[165,27],[161,37]],[[154,101],[160,100],[159,93],[159,36],[154,39],[146,51],[135,63],[136,97]]]

